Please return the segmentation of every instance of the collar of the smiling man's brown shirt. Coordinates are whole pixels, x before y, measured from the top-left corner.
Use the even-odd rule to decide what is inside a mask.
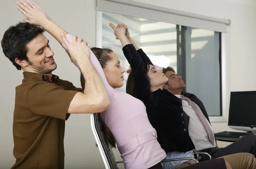
[[[27,80],[35,80],[35,81],[47,81],[49,82],[49,76],[47,75],[44,75],[44,74],[41,74],[41,73],[32,73],[32,72],[23,72],[23,77],[24,79],[27,79]],[[53,75],[52,74],[52,82],[56,82],[59,80],[59,77],[56,76],[56,75]]]

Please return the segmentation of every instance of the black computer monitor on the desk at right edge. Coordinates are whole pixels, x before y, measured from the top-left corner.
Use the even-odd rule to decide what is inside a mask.
[[[256,91],[230,93],[228,126],[235,130],[256,131]]]

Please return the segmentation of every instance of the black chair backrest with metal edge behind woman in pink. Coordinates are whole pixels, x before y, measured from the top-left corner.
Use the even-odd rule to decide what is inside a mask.
[[[93,113],[91,114],[90,118],[93,135],[96,140],[97,146],[99,147],[99,152],[102,156],[102,160],[106,169],[118,169],[118,167],[116,166],[116,159],[113,154],[112,148],[106,140],[106,136],[102,132],[99,116],[100,113]]]

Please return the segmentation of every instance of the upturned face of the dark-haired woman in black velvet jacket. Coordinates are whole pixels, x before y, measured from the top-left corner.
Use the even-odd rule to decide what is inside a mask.
[[[168,82],[168,78],[163,73],[163,70],[156,69],[153,65],[149,65],[148,78],[150,81],[150,87],[152,88],[163,88],[163,85]]]

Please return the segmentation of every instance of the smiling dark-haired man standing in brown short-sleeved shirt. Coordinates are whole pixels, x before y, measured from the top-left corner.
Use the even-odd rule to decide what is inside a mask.
[[[52,74],[57,65],[43,32],[36,25],[18,23],[1,41],[5,56],[24,71],[22,84],[16,87],[12,169],[64,169],[65,120],[71,113],[102,112],[110,104],[102,79],[90,63],[87,42],[73,36],[68,46],[71,61],[85,79],[82,91]]]

